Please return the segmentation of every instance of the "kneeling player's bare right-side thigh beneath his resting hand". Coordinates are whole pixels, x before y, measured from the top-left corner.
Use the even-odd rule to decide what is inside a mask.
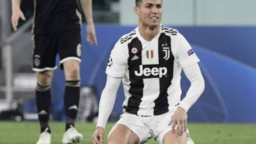
[[[176,131],[177,130],[175,130],[175,132]],[[163,144],[186,144],[188,134],[183,132],[181,136],[177,136],[175,132],[172,133],[171,131],[168,131],[164,134]]]

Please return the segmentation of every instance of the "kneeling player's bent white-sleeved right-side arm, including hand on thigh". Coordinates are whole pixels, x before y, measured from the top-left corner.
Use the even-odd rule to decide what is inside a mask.
[[[176,133],[181,135],[187,129],[187,112],[189,108],[196,102],[202,92],[204,92],[204,77],[200,71],[198,64],[194,64],[183,68],[186,77],[188,77],[191,85],[186,97],[182,99],[179,107],[175,111],[170,120],[169,125],[172,124],[172,132],[177,128]]]

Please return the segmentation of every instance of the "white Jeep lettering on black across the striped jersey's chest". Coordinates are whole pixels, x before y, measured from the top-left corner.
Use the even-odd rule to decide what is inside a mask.
[[[144,68],[143,68],[144,67]],[[140,65],[140,70],[134,71],[136,76],[145,76],[145,78],[151,77],[163,77],[167,74],[166,67],[157,67],[157,65]]]

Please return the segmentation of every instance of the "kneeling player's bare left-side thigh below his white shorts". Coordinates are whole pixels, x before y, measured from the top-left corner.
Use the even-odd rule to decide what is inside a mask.
[[[108,144],[138,144],[139,137],[127,126],[117,124],[108,135]]]

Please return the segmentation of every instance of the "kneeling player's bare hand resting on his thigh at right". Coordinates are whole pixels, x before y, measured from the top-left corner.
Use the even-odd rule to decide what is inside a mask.
[[[173,114],[170,122],[168,125],[172,125],[172,133],[177,134],[177,136],[181,136],[183,134],[183,131],[187,131],[187,118],[188,115],[186,111],[180,107],[177,108],[175,113]],[[176,126],[176,131],[175,131]]]

